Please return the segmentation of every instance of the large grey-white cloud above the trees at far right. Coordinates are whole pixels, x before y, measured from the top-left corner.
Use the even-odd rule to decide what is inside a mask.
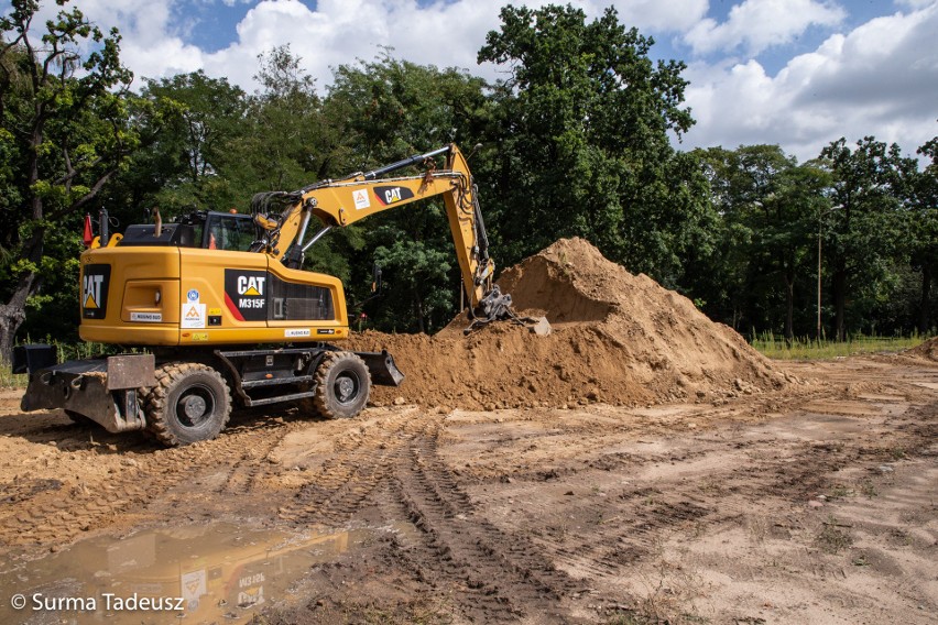
[[[912,153],[938,134],[938,7],[876,18],[788,62],[692,64],[688,145],[778,143],[799,160],[840,136],[875,135]]]

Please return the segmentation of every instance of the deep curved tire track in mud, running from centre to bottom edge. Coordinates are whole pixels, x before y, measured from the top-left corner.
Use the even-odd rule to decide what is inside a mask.
[[[390,498],[382,506],[417,531],[391,541],[395,560],[415,580],[443,591],[473,622],[536,617],[569,623],[564,599],[575,580],[531,541],[477,516],[437,452],[441,423],[412,439],[397,457]],[[457,592],[447,592],[456,589]]]

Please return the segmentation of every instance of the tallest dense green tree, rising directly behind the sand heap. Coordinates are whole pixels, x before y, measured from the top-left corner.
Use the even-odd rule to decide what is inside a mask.
[[[690,248],[709,246],[706,180],[670,145],[694,123],[684,64],[653,63],[654,41],[611,8],[587,23],[569,6],[509,6],[501,20],[479,52],[508,74],[493,92],[493,238],[517,260],[585,237],[676,285]]]

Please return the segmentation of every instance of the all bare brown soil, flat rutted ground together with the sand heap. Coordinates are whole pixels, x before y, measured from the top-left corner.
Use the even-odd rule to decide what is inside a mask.
[[[366,332],[407,380],[353,420],[243,410],[163,449],[2,392],[0,622],[76,616],[13,592],[155,592],[118,557],[146,537],[208,571],[184,622],[938,622],[934,342],[770,362],[578,240],[503,284],[554,333]]]

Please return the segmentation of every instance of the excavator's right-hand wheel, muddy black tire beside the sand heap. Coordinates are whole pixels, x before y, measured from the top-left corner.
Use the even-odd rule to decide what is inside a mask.
[[[326,352],[316,369],[313,406],[327,419],[357,416],[368,403],[371,374],[364,361],[351,352]]]

